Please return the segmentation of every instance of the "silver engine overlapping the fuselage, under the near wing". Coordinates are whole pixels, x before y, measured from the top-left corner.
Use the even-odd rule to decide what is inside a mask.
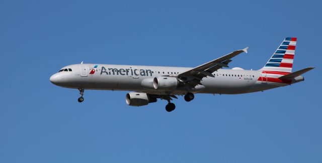
[[[178,84],[179,80],[175,77],[158,76],[153,79],[153,87],[157,90],[173,90]]]

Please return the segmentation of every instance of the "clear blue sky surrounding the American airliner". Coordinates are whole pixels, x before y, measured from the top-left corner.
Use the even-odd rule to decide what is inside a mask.
[[[0,162],[322,162],[320,1],[0,1]],[[85,63],[260,69],[297,37],[305,81],[189,103],[57,87]]]

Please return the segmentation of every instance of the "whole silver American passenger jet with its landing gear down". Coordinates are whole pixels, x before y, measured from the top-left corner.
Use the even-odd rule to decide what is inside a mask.
[[[287,37],[265,66],[259,70],[228,67],[233,57],[247,53],[237,50],[195,68],[107,64],[74,64],[61,68],[50,77],[50,82],[65,88],[78,89],[84,101],[84,90],[122,90],[130,106],[143,106],[167,100],[166,110],[175,110],[171,101],[184,96],[189,102],[194,94],[242,94],[264,91],[304,81],[302,74],[308,67],[292,72],[297,38]]]

